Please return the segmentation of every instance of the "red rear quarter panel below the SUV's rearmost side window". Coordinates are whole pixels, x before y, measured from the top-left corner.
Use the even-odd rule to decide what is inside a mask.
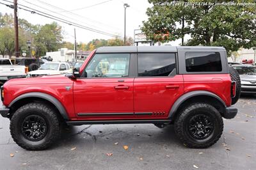
[[[210,91],[231,105],[231,78],[229,74],[190,74],[184,77],[184,93],[196,90]]]

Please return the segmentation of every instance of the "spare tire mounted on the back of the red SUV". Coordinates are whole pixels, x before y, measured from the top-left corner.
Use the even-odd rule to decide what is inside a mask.
[[[234,105],[239,100],[241,95],[241,80],[239,77],[239,73],[236,69],[229,67],[230,77],[232,81],[236,81],[236,96],[232,98],[231,104]]]

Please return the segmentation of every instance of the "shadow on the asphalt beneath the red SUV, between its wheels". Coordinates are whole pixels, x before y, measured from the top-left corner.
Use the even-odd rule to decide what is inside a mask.
[[[102,143],[113,146],[113,143],[130,144],[164,144],[165,146],[177,145],[184,147],[175,135],[173,125],[164,128],[157,128],[154,125],[83,125],[70,126],[63,129],[60,140],[51,147],[58,147],[94,144],[101,146]],[[178,148],[179,148],[178,147]]]

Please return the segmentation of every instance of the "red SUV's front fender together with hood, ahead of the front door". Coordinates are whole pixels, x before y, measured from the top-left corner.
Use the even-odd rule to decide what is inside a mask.
[[[66,86],[71,89],[67,91]],[[65,107],[70,118],[74,114],[74,101],[72,93],[73,81],[64,75],[51,75],[35,78],[11,79],[4,84],[4,102],[8,106],[12,100],[30,92],[40,92],[52,95]]]

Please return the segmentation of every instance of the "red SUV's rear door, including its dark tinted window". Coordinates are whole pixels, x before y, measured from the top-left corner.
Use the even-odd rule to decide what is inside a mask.
[[[175,52],[138,52],[134,79],[134,114],[138,119],[167,118],[182,95],[183,77],[177,75]]]

